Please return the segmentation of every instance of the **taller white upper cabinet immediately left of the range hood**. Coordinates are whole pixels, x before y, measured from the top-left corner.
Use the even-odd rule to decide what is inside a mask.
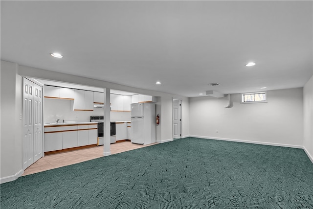
[[[73,110],[93,111],[93,92],[75,89]]]

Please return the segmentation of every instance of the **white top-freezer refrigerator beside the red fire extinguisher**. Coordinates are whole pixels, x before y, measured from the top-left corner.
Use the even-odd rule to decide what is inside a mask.
[[[131,142],[136,144],[156,142],[156,104],[131,104]]]

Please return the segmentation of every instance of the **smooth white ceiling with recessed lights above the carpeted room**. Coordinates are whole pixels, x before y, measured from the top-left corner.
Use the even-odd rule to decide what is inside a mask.
[[[187,97],[303,87],[312,3],[1,0],[1,60]]]

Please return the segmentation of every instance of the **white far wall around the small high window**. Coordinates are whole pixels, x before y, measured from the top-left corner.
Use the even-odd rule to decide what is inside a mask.
[[[240,94],[231,94],[231,108],[224,108],[227,97],[190,98],[190,135],[302,147],[302,88],[268,91],[267,98],[241,104]]]

